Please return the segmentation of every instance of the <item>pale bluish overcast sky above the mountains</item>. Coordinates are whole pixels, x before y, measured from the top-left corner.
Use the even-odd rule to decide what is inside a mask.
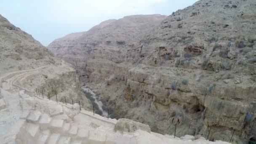
[[[0,0],[0,14],[47,46],[72,32],[135,14],[170,15],[197,0]]]

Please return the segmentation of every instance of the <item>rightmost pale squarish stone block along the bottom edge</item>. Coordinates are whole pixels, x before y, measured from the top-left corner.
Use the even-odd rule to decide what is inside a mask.
[[[101,131],[95,132],[95,131],[89,131],[89,144],[104,144],[106,141],[106,133],[103,133]],[[119,143],[118,143],[119,144]],[[120,143],[122,144],[122,143]]]

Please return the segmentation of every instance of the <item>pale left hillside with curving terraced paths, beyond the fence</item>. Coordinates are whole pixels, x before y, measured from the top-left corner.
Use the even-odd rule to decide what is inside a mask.
[[[10,92],[24,89],[27,93],[68,103],[81,101],[85,108],[91,102],[83,95],[80,81],[71,64],[55,58],[31,35],[15,27],[0,15],[0,88]],[[14,77],[10,80],[10,77]]]

